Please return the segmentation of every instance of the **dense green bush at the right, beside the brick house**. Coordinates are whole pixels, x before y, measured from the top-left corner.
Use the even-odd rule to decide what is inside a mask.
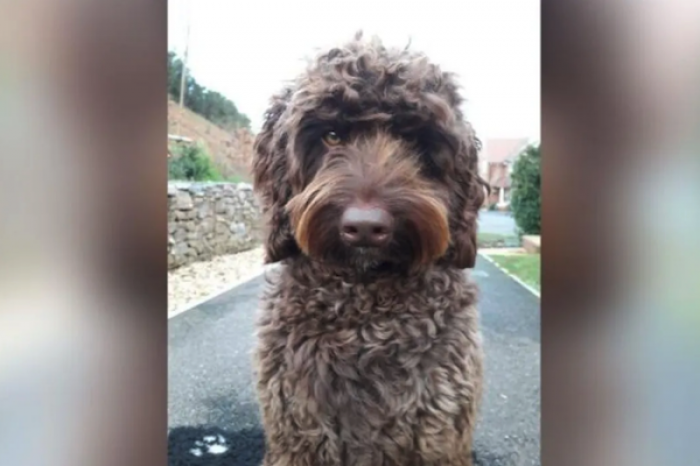
[[[513,165],[510,207],[523,234],[539,235],[542,226],[540,146],[529,146]]]

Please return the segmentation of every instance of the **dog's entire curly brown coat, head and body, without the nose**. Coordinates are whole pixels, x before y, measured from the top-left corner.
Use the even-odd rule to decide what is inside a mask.
[[[254,161],[283,262],[255,351],[265,466],[471,465],[482,352],[462,269],[485,183],[460,103],[424,55],[361,35],[273,98]],[[386,247],[340,241],[358,201],[396,220]]]

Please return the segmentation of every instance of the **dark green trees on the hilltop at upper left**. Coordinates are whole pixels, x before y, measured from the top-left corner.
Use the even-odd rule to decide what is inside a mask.
[[[168,52],[168,94],[180,101],[183,63],[175,52]],[[224,129],[250,129],[250,119],[236,105],[216,91],[207,89],[189,71],[185,78],[185,107]]]

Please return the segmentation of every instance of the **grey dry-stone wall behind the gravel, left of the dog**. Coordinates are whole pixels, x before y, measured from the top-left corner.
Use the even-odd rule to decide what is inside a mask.
[[[168,183],[169,269],[251,249],[260,226],[250,184]]]

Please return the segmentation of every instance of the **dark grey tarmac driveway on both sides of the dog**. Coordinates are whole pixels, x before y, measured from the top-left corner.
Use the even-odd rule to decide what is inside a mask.
[[[479,466],[540,465],[539,300],[479,258],[486,351]],[[251,377],[259,277],[169,321],[170,466],[259,466],[264,440]]]

